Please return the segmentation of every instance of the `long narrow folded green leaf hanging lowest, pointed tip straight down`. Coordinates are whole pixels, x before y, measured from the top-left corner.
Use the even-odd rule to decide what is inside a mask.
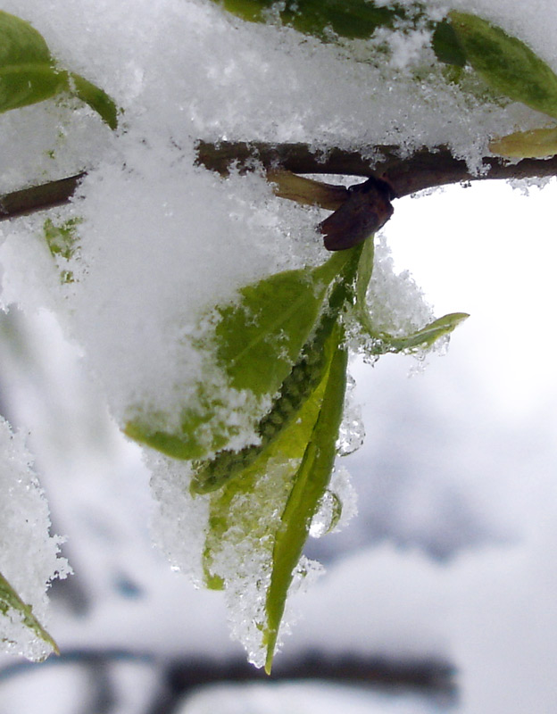
[[[341,346],[343,329],[337,326],[328,343],[330,368],[320,411],[278,527],[272,555],[272,573],[265,602],[263,643],[269,674],[284,614],[288,588],[295,575],[303,544],[320,500],[327,490],[337,453],[337,436],[345,400],[347,353]]]

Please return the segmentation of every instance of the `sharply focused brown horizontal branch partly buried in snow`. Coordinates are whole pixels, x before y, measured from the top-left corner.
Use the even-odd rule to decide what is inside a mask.
[[[496,157],[484,159],[485,172],[471,174],[466,162],[455,159],[444,146],[420,149],[411,156],[400,155],[396,146],[376,146],[362,152],[332,148],[316,154],[310,145],[261,142],[200,141],[197,162],[209,170],[226,175],[232,166],[250,170],[262,166],[277,185],[276,192],[300,203],[313,203],[337,210],[348,198],[344,187],[319,181],[292,178],[291,174],[336,174],[383,179],[396,197],[414,194],[425,188],[483,179],[528,179],[557,176],[557,156],[551,159],[523,159],[517,163]],[[373,159],[370,159],[370,156]],[[290,175],[287,173],[290,172]],[[0,220],[45,211],[69,203],[86,172],[40,186],[24,188],[0,196]],[[288,176],[290,178],[288,178]]]

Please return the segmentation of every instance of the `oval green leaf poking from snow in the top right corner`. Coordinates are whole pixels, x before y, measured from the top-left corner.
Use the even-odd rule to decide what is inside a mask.
[[[449,18],[466,59],[495,91],[557,117],[557,75],[517,37],[467,12]]]

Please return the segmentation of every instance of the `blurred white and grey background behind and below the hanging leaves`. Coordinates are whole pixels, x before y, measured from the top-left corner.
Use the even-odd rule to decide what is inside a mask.
[[[0,714],[549,714],[557,706],[554,181],[395,203],[397,270],[443,356],[353,359],[366,438],[339,465],[358,515],[308,544],[326,567],[272,677],[229,639],[220,594],[151,544],[141,453],[54,317],[0,315],[0,411],[28,436],[74,575],[50,591],[61,656],[0,659]]]

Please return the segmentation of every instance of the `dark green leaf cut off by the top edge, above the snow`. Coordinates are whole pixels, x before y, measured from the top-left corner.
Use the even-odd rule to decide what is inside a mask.
[[[376,4],[371,0],[214,0],[249,22],[280,21],[306,35],[330,41],[335,35],[367,39],[378,28],[394,28],[415,14],[403,4]]]

